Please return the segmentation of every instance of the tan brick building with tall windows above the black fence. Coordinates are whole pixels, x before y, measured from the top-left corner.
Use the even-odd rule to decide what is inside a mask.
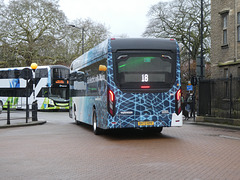
[[[211,2],[212,78],[240,76],[240,0]]]

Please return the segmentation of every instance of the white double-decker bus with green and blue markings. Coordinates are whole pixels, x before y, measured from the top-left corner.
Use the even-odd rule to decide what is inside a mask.
[[[69,108],[69,73],[70,69],[61,65],[38,66],[33,78],[25,80],[22,70],[26,67],[0,68],[0,107],[26,109],[28,104],[37,100],[38,109]],[[29,67],[29,69],[31,69]],[[33,88],[35,84],[35,88]]]

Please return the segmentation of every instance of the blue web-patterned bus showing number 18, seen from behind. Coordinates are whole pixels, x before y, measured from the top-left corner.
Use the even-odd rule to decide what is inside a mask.
[[[70,67],[70,117],[103,129],[182,126],[174,39],[107,39]]]

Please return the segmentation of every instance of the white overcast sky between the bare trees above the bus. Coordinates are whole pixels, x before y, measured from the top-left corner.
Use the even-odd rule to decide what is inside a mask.
[[[152,5],[169,0],[59,0],[68,19],[91,18],[104,24],[112,37],[141,37],[148,24]]]

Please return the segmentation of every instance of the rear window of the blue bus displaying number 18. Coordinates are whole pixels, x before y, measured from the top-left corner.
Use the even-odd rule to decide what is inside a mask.
[[[120,88],[138,89],[149,85],[160,89],[175,82],[176,58],[171,52],[121,52],[115,57],[116,80]]]

